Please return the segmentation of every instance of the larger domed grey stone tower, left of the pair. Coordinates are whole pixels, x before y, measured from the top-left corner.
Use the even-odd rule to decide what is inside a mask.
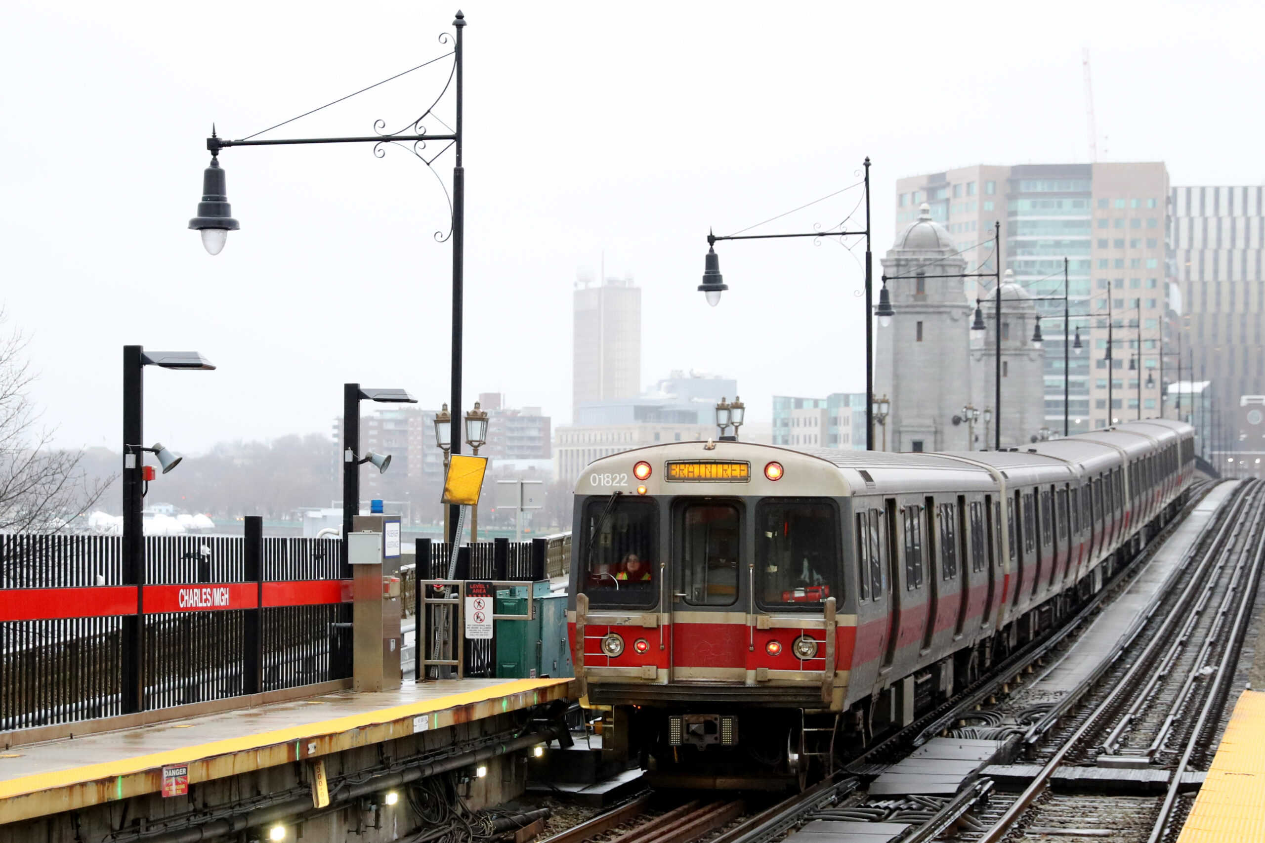
[[[896,315],[892,324],[877,328],[874,395],[891,401],[888,451],[969,449],[960,416],[974,397],[973,308],[963,291],[963,272],[965,261],[953,237],[931,220],[926,204],[883,258]],[[1040,378],[1036,386],[1040,391]],[[875,435],[882,447],[883,429]]]

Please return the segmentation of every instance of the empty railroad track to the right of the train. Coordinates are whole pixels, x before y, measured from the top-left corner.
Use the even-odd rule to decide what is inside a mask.
[[[1226,510],[1117,657],[1030,727],[1023,743],[1040,772],[972,837],[997,843],[1082,832],[1160,843],[1180,830],[1184,773],[1207,765],[1265,558],[1265,487],[1246,484]],[[1050,792],[1054,772],[1073,765],[1165,770],[1168,782],[1163,796]]]

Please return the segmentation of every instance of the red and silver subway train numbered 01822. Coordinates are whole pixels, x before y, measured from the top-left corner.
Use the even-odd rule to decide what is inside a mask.
[[[1061,623],[1193,473],[1193,429],[1170,420],[1022,451],[603,457],[576,487],[583,701],[659,784],[802,784]]]

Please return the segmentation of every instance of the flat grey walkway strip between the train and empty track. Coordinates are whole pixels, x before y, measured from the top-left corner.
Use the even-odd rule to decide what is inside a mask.
[[[1155,558],[1123,594],[1106,606],[1082,633],[1058,663],[1036,677],[1021,694],[1011,699],[1016,709],[1040,702],[1058,702],[1074,691],[1111,658],[1121,639],[1131,632],[1156,594],[1163,591],[1178,572],[1200,533],[1212,521],[1217,509],[1238,487],[1238,481],[1218,484],[1194,508],[1155,553]]]

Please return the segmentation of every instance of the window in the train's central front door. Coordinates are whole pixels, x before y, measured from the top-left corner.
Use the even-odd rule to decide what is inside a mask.
[[[692,606],[737,601],[739,511],[735,504],[688,504],[681,524],[681,590]]]

